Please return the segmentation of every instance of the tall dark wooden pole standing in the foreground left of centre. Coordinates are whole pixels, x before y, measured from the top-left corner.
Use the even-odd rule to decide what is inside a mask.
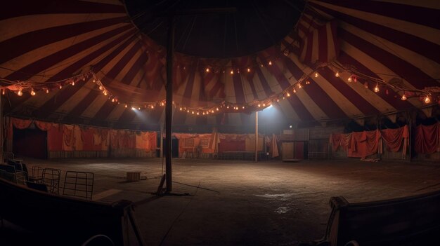
[[[168,17],[167,43],[167,104],[165,105],[165,174],[167,176],[167,193],[172,191],[172,121],[173,121],[173,53],[174,53],[174,15]]]

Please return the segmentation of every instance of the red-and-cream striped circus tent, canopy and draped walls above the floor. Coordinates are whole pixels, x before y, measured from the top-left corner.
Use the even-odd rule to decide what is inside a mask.
[[[440,160],[436,1],[3,5],[4,158]]]

